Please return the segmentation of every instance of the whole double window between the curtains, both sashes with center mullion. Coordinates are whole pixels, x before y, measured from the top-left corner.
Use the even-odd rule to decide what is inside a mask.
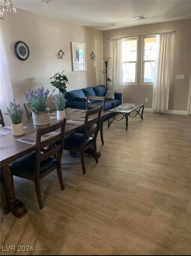
[[[156,44],[155,35],[123,39],[122,63],[124,85],[136,85],[137,83],[153,84],[157,51]]]

